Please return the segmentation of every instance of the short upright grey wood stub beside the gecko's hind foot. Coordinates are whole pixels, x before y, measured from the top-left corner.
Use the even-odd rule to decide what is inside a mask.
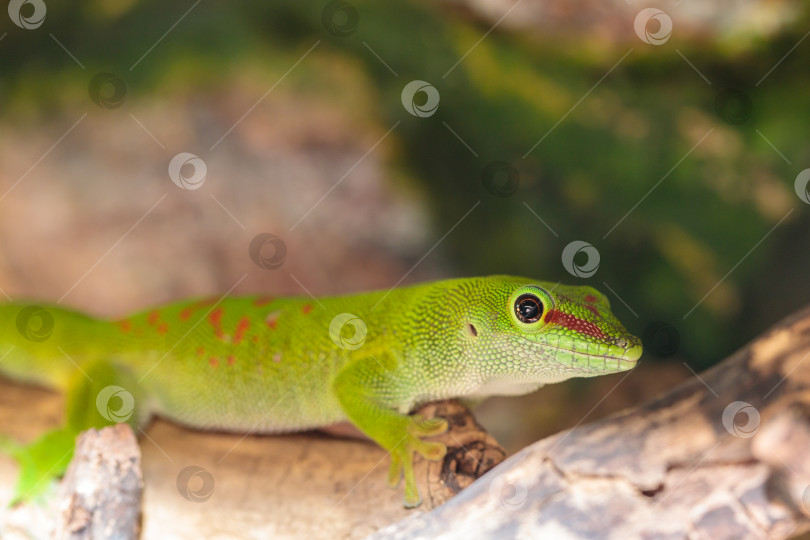
[[[137,538],[142,487],[141,452],[128,425],[83,432],[60,488],[55,537]]]

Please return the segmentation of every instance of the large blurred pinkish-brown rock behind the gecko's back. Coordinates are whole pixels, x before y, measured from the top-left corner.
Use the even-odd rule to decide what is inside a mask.
[[[396,134],[381,140],[370,122],[280,90],[240,121],[262,92],[237,85],[4,130],[0,288],[112,315],[224,293],[244,274],[237,292],[393,286],[430,238],[418,193],[385,172]],[[198,189],[169,177],[180,152],[205,163]],[[248,256],[263,232],[287,246],[276,270]]]

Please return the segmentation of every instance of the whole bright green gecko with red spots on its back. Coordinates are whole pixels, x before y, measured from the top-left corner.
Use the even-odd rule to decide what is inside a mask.
[[[512,276],[321,298],[186,300],[120,320],[0,305],[0,372],[66,393],[64,426],[30,445],[18,497],[61,475],[76,435],[153,415],[200,429],[281,433],[348,420],[391,455],[388,481],[421,498],[415,452],[447,429],[409,414],[445,398],[519,395],[633,368],[640,340],[592,287]]]

